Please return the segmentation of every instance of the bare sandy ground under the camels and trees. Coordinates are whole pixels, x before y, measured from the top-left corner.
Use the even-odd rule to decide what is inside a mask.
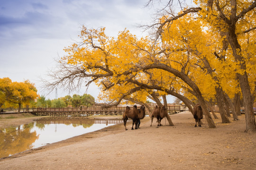
[[[219,116],[219,115],[218,115]],[[174,127],[125,131],[123,124],[0,159],[2,170],[256,170],[256,134],[239,121],[194,127],[190,112],[170,115]],[[220,116],[219,116],[220,118]],[[231,120],[231,118],[230,118]]]

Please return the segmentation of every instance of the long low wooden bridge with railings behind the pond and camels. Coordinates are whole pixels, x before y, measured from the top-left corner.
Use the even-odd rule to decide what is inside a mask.
[[[77,118],[91,115],[122,115],[125,109],[126,107],[33,108],[29,112],[37,116]],[[154,107],[152,109],[154,110]],[[167,113],[174,114],[180,111],[180,106],[168,106]]]

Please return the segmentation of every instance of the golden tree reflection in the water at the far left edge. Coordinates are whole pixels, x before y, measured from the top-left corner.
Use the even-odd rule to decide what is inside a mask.
[[[0,158],[32,149],[38,139],[37,132],[30,132],[34,122],[6,129],[0,129]]]

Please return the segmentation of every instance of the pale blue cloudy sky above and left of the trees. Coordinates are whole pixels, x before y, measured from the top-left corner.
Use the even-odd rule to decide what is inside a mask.
[[[127,28],[132,34],[142,35],[137,24],[152,22],[154,8],[144,8],[147,0],[0,0],[0,78],[12,81],[29,80],[38,93],[55,98],[55,92],[42,91],[40,77],[46,77],[55,67],[54,59],[64,55],[85,25],[106,27],[106,34],[116,36]],[[144,33],[145,34],[145,33]],[[80,91],[64,92],[58,97]],[[87,93],[95,98],[98,89],[91,86]],[[172,101],[170,101],[172,102]]]

